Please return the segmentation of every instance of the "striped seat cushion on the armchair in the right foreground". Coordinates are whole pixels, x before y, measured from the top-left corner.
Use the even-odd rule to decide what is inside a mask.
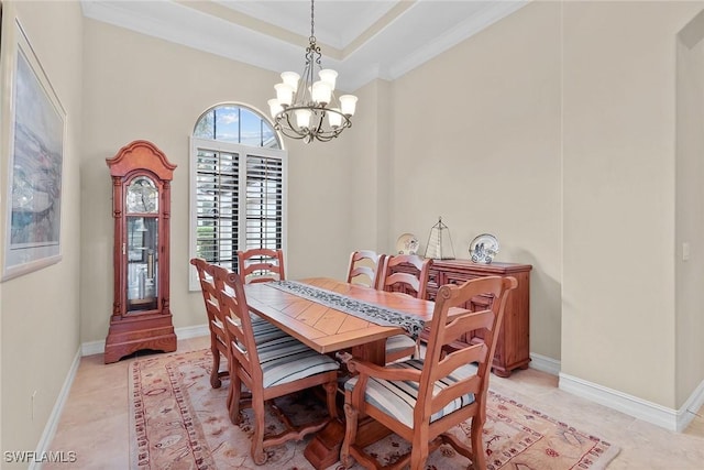
[[[410,359],[402,362],[393,362],[387,364],[387,369],[422,369],[424,361],[419,359]],[[447,378],[436,382],[433,394],[440,392],[440,390],[447,387],[448,385],[458,382],[465,378],[464,373],[469,371],[463,371],[462,369],[458,369],[452,374]],[[344,389],[352,391],[356,385],[358,378],[352,378],[345,382]],[[374,407],[381,409],[387,415],[394,417],[400,423],[405,424],[409,428],[414,427],[414,407],[416,406],[416,402],[418,401],[418,382],[410,381],[387,381],[370,378],[366,383],[366,393],[364,400],[372,404]],[[468,393],[466,395],[462,395],[459,398],[453,400],[448,403],[442,409],[437,412],[430,417],[430,423],[436,419],[441,418],[442,416],[449,415],[450,413],[474,403],[474,394]]]

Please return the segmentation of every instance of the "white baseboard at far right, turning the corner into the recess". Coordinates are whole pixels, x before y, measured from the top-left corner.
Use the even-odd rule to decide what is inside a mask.
[[[560,390],[676,433],[688,427],[704,403],[704,381],[680,409],[673,409],[569,374],[559,378]]]

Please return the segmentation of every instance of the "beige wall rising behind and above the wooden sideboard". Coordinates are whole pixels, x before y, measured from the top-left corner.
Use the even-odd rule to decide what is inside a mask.
[[[560,359],[559,3],[526,7],[392,84],[386,250],[442,216],[457,258],[494,233],[528,263],[530,350]]]

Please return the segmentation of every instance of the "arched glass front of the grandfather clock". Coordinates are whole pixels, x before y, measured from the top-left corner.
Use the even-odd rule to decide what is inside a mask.
[[[127,310],[153,310],[158,298],[158,188],[138,176],[127,188]]]

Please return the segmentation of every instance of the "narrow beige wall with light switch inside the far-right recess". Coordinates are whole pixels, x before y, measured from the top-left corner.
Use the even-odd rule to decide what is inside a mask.
[[[704,371],[704,12],[679,34],[675,142],[675,401],[683,403]],[[690,259],[683,259],[683,243]]]

